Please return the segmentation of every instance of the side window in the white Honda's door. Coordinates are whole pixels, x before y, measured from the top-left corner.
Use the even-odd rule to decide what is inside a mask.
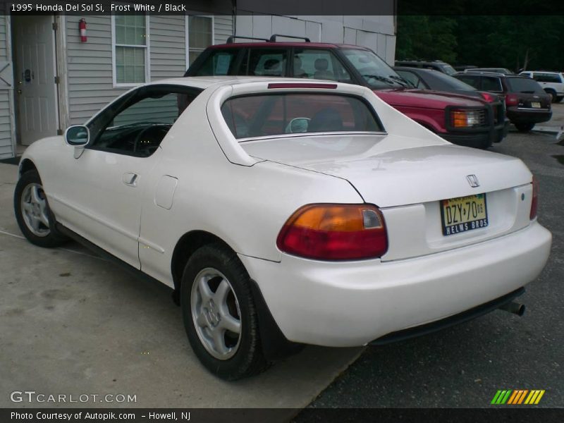
[[[197,92],[182,87],[142,87],[116,100],[88,123],[89,148],[149,157],[196,96]]]

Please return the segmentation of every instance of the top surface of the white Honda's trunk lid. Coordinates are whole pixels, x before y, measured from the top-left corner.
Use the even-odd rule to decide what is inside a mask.
[[[514,157],[397,135],[310,135],[241,142],[252,157],[348,180],[379,207],[491,192],[531,182]],[[468,175],[479,187],[472,188]]]

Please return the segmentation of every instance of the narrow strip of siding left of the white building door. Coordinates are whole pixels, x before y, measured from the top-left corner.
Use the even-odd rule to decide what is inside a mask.
[[[11,63],[11,57],[8,57],[8,37],[7,20],[9,15],[0,16],[0,65],[2,68]],[[9,65],[8,65],[9,66]],[[6,68],[11,71],[12,68]],[[9,159],[15,155],[13,151],[13,87],[8,87],[4,81],[0,81],[0,159]]]

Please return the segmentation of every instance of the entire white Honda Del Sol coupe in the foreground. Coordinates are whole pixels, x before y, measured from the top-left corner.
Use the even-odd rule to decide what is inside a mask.
[[[27,239],[75,238],[166,283],[224,379],[296,345],[385,343],[515,308],[551,246],[522,161],[452,145],[340,82],[141,85],[35,142],[19,171]]]

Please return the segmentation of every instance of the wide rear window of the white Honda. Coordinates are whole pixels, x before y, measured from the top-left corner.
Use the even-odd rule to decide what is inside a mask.
[[[381,132],[372,107],[345,94],[257,94],[228,99],[221,114],[235,138],[292,133]]]

